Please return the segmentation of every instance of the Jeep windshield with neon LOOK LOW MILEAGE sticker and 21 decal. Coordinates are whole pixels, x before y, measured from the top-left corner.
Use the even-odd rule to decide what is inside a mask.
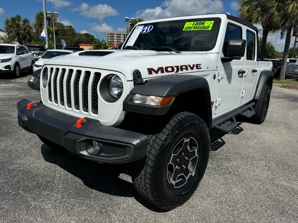
[[[195,18],[138,25],[123,49],[162,49],[168,46],[179,51],[209,51],[216,44],[220,23],[220,18]]]

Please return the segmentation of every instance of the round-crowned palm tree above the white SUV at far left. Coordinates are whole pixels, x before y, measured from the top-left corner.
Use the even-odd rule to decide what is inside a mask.
[[[4,31],[9,41],[23,45],[31,40],[33,30],[29,19],[17,14],[4,20]]]

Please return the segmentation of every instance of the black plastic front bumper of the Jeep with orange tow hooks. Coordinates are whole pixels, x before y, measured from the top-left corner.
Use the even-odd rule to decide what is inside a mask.
[[[77,128],[78,117],[74,117],[35,103],[27,109],[29,100],[17,103],[18,124],[26,131],[39,134],[69,152],[100,163],[128,163],[145,157],[147,136],[111,126],[98,120],[85,118],[82,127]],[[97,141],[100,150],[96,152],[92,143]]]

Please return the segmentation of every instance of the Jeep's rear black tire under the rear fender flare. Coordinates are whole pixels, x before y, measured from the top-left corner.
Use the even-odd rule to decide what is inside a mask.
[[[256,114],[254,114],[250,118],[250,120],[253,123],[261,124],[265,121],[266,115],[268,112],[269,101],[270,101],[270,87],[266,85],[264,87],[260,100],[258,100],[254,106],[254,111],[256,112]]]

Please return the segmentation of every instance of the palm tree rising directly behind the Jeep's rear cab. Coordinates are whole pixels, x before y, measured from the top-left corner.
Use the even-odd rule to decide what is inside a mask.
[[[265,2],[267,2],[265,4]],[[260,23],[263,26],[263,38],[260,52],[260,59],[264,59],[265,47],[268,34],[276,33],[279,30],[278,24],[272,21],[270,0],[238,0],[238,15],[251,23]]]

